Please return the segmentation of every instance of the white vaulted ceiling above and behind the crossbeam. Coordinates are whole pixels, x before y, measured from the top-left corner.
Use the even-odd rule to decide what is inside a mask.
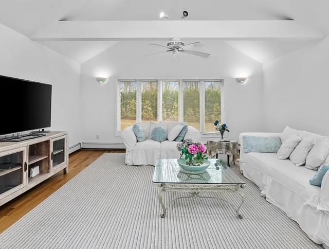
[[[329,34],[327,0],[2,0],[0,23],[31,37],[60,19],[65,20],[158,20],[160,11],[170,20],[282,20],[296,21]],[[184,20],[183,20],[184,22]],[[78,63],[111,47],[113,42],[42,42]],[[306,42],[227,41],[227,44],[262,63],[280,57]]]

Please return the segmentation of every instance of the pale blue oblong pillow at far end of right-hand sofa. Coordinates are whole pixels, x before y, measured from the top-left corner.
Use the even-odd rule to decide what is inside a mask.
[[[243,136],[243,151],[277,153],[281,147],[280,137]]]

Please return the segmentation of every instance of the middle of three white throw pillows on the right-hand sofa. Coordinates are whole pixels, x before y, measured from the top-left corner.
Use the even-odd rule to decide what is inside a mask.
[[[303,138],[293,153],[289,156],[291,162],[297,166],[302,166],[306,162],[308,152],[313,148],[315,139],[312,137]]]

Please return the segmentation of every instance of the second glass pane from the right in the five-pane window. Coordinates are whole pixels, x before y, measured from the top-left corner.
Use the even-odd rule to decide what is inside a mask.
[[[200,130],[199,81],[184,81],[184,122]]]

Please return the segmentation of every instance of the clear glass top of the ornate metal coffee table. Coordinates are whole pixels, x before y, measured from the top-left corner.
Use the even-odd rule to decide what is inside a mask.
[[[180,168],[177,159],[158,159],[153,174],[153,182],[171,184],[245,184],[224,161],[218,159],[208,160],[211,164],[207,170],[202,173],[195,173]]]

